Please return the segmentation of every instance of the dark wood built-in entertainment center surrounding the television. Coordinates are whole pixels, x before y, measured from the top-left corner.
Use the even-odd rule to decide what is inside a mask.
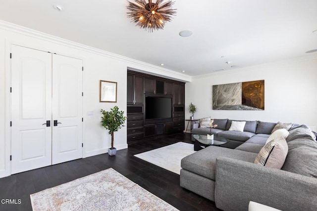
[[[146,119],[146,97],[171,99],[171,116]],[[128,70],[127,141],[183,132],[185,83]]]

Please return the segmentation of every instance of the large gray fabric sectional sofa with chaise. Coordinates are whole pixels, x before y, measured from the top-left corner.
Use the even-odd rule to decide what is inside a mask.
[[[180,186],[224,211],[247,211],[250,201],[285,211],[316,210],[317,141],[309,127],[294,124],[289,129],[285,163],[273,169],[254,161],[276,123],[246,121],[241,132],[228,130],[231,122],[215,119],[218,127],[211,129],[230,140],[229,148],[209,146],[182,159]],[[195,134],[209,132],[192,129]]]

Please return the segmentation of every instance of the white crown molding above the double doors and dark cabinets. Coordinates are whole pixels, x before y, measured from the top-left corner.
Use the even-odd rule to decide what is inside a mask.
[[[24,36],[28,36],[28,37],[32,37],[35,39],[40,39],[43,41],[47,41],[47,42],[53,42],[56,44],[61,44],[67,47],[71,47],[77,50],[84,50],[86,52],[90,52],[90,53],[94,53],[94,54],[98,54],[101,56],[105,56],[107,58],[111,58],[111,59],[115,59],[115,60],[119,60],[122,62],[126,62],[128,64],[129,67],[132,68],[136,68],[136,69],[144,69],[143,71],[146,71],[148,73],[153,73],[156,75],[159,75],[161,77],[165,77],[165,78],[171,78],[174,80],[180,80],[183,82],[191,82],[192,81],[192,77],[182,74],[182,73],[178,73],[176,71],[173,70],[169,70],[166,68],[162,68],[162,67],[158,67],[146,62],[142,62],[136,59],[131,59],[129,57],[125,57],[119,54],[115,54],[115,53],[111,53],[99,48],[95,48],[95,47],[91,47],[85,44],[81,44],[78,42],[73,42],[70,40],[66,40],[66,39],[62,39],[50,34],[46,34],[43,32],[39,32],[30,28],[26,28],[20,25],[16,25],[13,23],[9,23],[6,21],[2,21],[0,20],[0,29],[2,30],[6,30],[12,33],[17,33],[20,35],[24,35]]]

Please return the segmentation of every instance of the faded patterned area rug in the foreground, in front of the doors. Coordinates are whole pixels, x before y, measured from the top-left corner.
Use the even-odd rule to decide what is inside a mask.
[[[177,211],[114,169],[30,195],[33,211]]]

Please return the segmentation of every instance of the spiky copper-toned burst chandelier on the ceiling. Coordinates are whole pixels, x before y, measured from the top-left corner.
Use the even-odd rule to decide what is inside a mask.
[[[128,17],[136,23],[136,26],[149,32],[163,29],[165,23],[171,21],[171,15],[176,15],[176,9],[172,8],[174,2],[169,0],[164,3],[163,1],[157,0],[153,3],[152,0],[148,0],[148,2],[146,0],[135,0],[136,3],[128,1]]]

